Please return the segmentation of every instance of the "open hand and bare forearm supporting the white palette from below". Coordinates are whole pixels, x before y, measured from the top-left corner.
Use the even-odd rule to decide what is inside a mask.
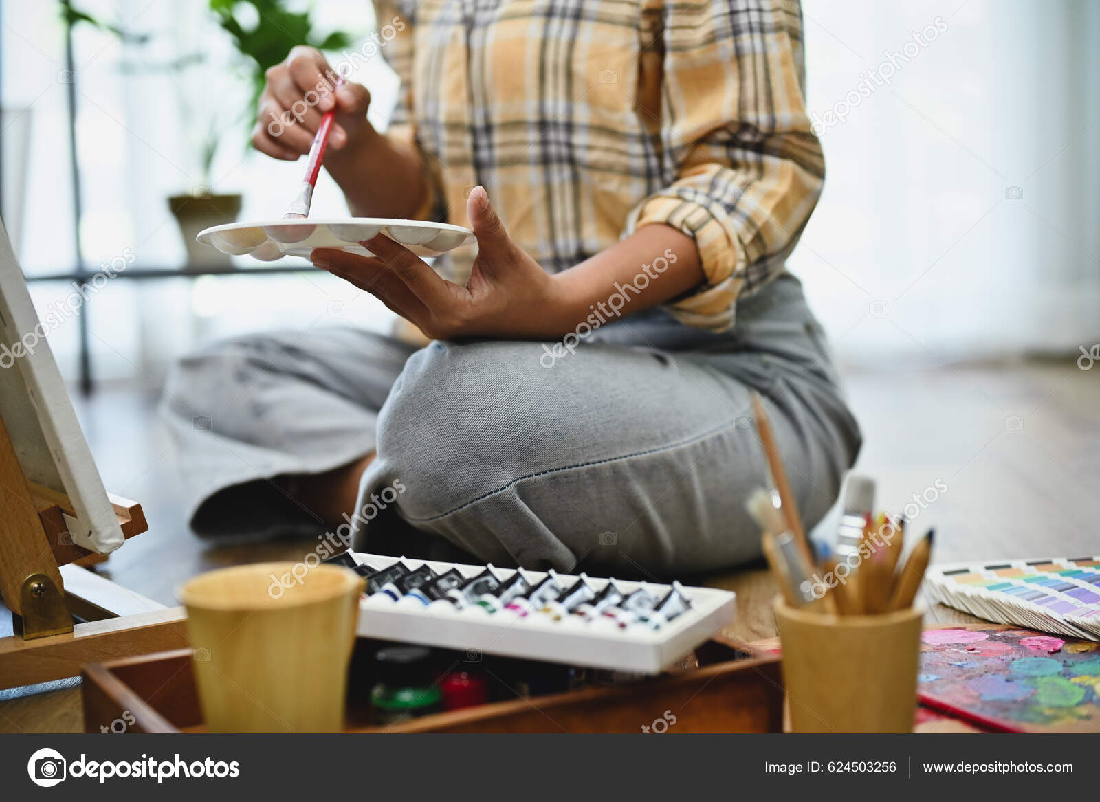
[[[317,249],[314,264],[378,297],[435,340],[558,340],[582,325],[661,304],[704,281],[695,241],[646,226],[592,259],[550,276],[508,235],[483,187],[466,198],[477,255],[465,286],[446,281],[411,251],[378,234],[373,256]],[[540,359],[541,362],[541,359]]]

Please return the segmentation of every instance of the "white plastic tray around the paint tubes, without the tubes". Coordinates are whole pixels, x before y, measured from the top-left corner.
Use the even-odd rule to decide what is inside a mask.
[[[398,561],[395,557],[355,553],[358,562],[374,568],[386,568]],[[410,569],[425,560],[402,558]],[[457,568],[466,576],[475,576],[484,565],[464,565],[451,562],[428,564],[437,573]],[[507,579],[513,569],[494,568],[496,575]],[[539,571],[524,571],[537,582],[546,576]],[[573,574],[558,574],[563,582],[572,582]],[[607,584],[606,579],[588,578],[595,590]],[[647,587],[663,596],[669,585],[650,582],[615,580],[626,592]],[[436,602],[428,607],[413,600],[395,602],[384,593],[365,596],[359,605],[361,637],[397,640],[422,646],[435,646],[474,655],[503,655],[531,660],[561,662],[571,666],[640,673],[659,673],[662,669],[705,642],[734,619],[735,595],[713,587],[685,587],[691,608],[660,629],[644,625],[620,628],[610,619],[585,622],[580,616],[554,620],[551,616],[531,613],[520,617],[508,609],[487,613],[474,605],[458,609],[448,602]]]

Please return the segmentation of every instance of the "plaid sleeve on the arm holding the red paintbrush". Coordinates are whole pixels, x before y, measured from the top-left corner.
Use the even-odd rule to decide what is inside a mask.
[[[420,156],[426,191],[424,202],[413,216],[414,219],[446,222],[447,206],[443,200],[441,171],[420,146],[414,123],[414,25],[418,6],[418,2],[374,0],[375,26],[380,34],[378,41],[384,43],[380,52],[400,79],[397,105],[389,119],[386,136],[396,143],[415,149]]]

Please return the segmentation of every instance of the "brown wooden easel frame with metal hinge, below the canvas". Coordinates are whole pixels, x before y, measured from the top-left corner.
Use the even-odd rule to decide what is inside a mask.
[[[141,505],[110,501],[124,537],[148,528]],[[183,607],[165,607],[74,564],[103,558],[73,542],[66,514],[75,517],[66,495],[26,480],[0,418],[0,594],[15,631],[0,638],[0,690],[76,677],[84,663],[188,646]]]

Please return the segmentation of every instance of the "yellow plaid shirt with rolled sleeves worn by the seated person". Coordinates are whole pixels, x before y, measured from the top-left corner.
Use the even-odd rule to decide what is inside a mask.
[[[482,184],[550,272],[672,226],[695,239],[706,282],[669,308],[716,330],[783,270],[825,174],[798,0],[375,7],[380,29],[406,25],[382,53],[402,79],[391,132],[425,156],[420,217],[466,224],[465,196]],[[464,281],[475,252],[437,266]]]

